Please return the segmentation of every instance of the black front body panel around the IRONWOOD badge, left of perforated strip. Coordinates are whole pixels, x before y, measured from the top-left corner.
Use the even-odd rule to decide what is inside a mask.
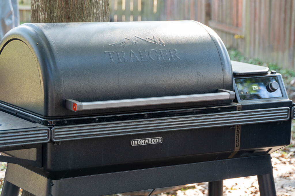
[[[157,137],[162,143],[131,145],[132,140]],[[226,159],[234,145],[235,129],[230,126],[70,140],[44,144],[43,167],[28,168],[53,179],[75,177]]]

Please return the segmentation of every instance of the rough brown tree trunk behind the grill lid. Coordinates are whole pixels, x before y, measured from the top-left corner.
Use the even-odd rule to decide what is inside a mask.
[[[31,0],[31,22],[108,22],[109,0]]]

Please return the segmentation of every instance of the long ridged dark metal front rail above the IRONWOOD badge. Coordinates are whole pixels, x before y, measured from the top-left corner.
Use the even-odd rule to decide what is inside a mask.
[[[52,140],[77,140],[125,134],[152,133],[182,129],[211,128],[230,125],[284,121],[290,118],[290,108],[233,111],[187,115],[145,120],[118,121],[53,128]]]

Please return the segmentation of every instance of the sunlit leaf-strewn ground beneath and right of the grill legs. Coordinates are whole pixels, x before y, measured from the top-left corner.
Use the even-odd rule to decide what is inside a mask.
[[[294,129],[294,122],[293,122]],[[294,131],[292,131],[294,136]],[[273,176],[278,196],[295,196],[295,141],[271,154]],[[161,196],[205,196],[208,182],[186,185],[180,190],[159,194]],[[241,177],[223,181],[224,196],[259,196],[257,176]]]

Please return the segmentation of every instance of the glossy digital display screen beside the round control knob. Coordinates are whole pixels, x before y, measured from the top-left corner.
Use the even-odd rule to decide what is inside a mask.
[[[236,78],[241,100],[282,97],[281,89],[272,92],[268,89],[271,82],[278,82],[276,76],[261,78]]]

